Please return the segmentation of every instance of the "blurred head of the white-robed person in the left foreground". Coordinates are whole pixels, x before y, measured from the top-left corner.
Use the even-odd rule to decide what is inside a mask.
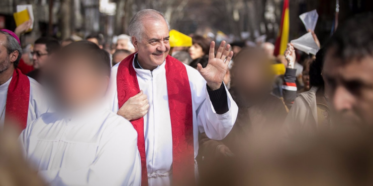
[[[109,54],[92,42],[78,41],[57,54],[54,93],[67,109],[81,108],[101,99],[110,76]]]

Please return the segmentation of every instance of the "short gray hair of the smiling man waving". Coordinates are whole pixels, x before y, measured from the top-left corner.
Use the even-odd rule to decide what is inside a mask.
[[[144,26],[142,21],[149,18],[158,20],[160,19],[160,17],[162,17],[166,21],[167,27],[170,30],[170,24],[162,12],[154,9],[143,9],[136,12],[136,14],[132,17],[131,21],[129,22],[128,31],[130,37],[135,36],[138,40],[141,41],[142,33],[144,32]]]

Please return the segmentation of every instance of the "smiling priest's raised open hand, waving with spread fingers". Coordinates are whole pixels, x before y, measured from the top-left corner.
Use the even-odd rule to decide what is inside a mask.
[[[206,67],[197,64],[197,70],[206,80],[207,86],[211,90],[220,88],[224,80],[224,76],[228,70],[228,64],[232,60],[233,52],[229,52],[230,45],[225,46],[225,41],[222,41],[215,56],[215,42],[210,44],[210,52],[208,54],[208,63]]]

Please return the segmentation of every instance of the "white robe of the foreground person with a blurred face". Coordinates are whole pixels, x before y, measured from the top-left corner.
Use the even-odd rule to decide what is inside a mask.
[[[22,131],[26,159],[52,186],[140,186],[137,132],[107,109],[43,114]]]

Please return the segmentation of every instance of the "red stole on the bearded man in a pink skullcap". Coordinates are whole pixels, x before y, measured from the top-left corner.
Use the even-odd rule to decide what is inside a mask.
[[[14,69],[6,96],[5,126],[16,122],[23,130],[27,125],[28,104],[30,100],[30,80],[21,70]]]

